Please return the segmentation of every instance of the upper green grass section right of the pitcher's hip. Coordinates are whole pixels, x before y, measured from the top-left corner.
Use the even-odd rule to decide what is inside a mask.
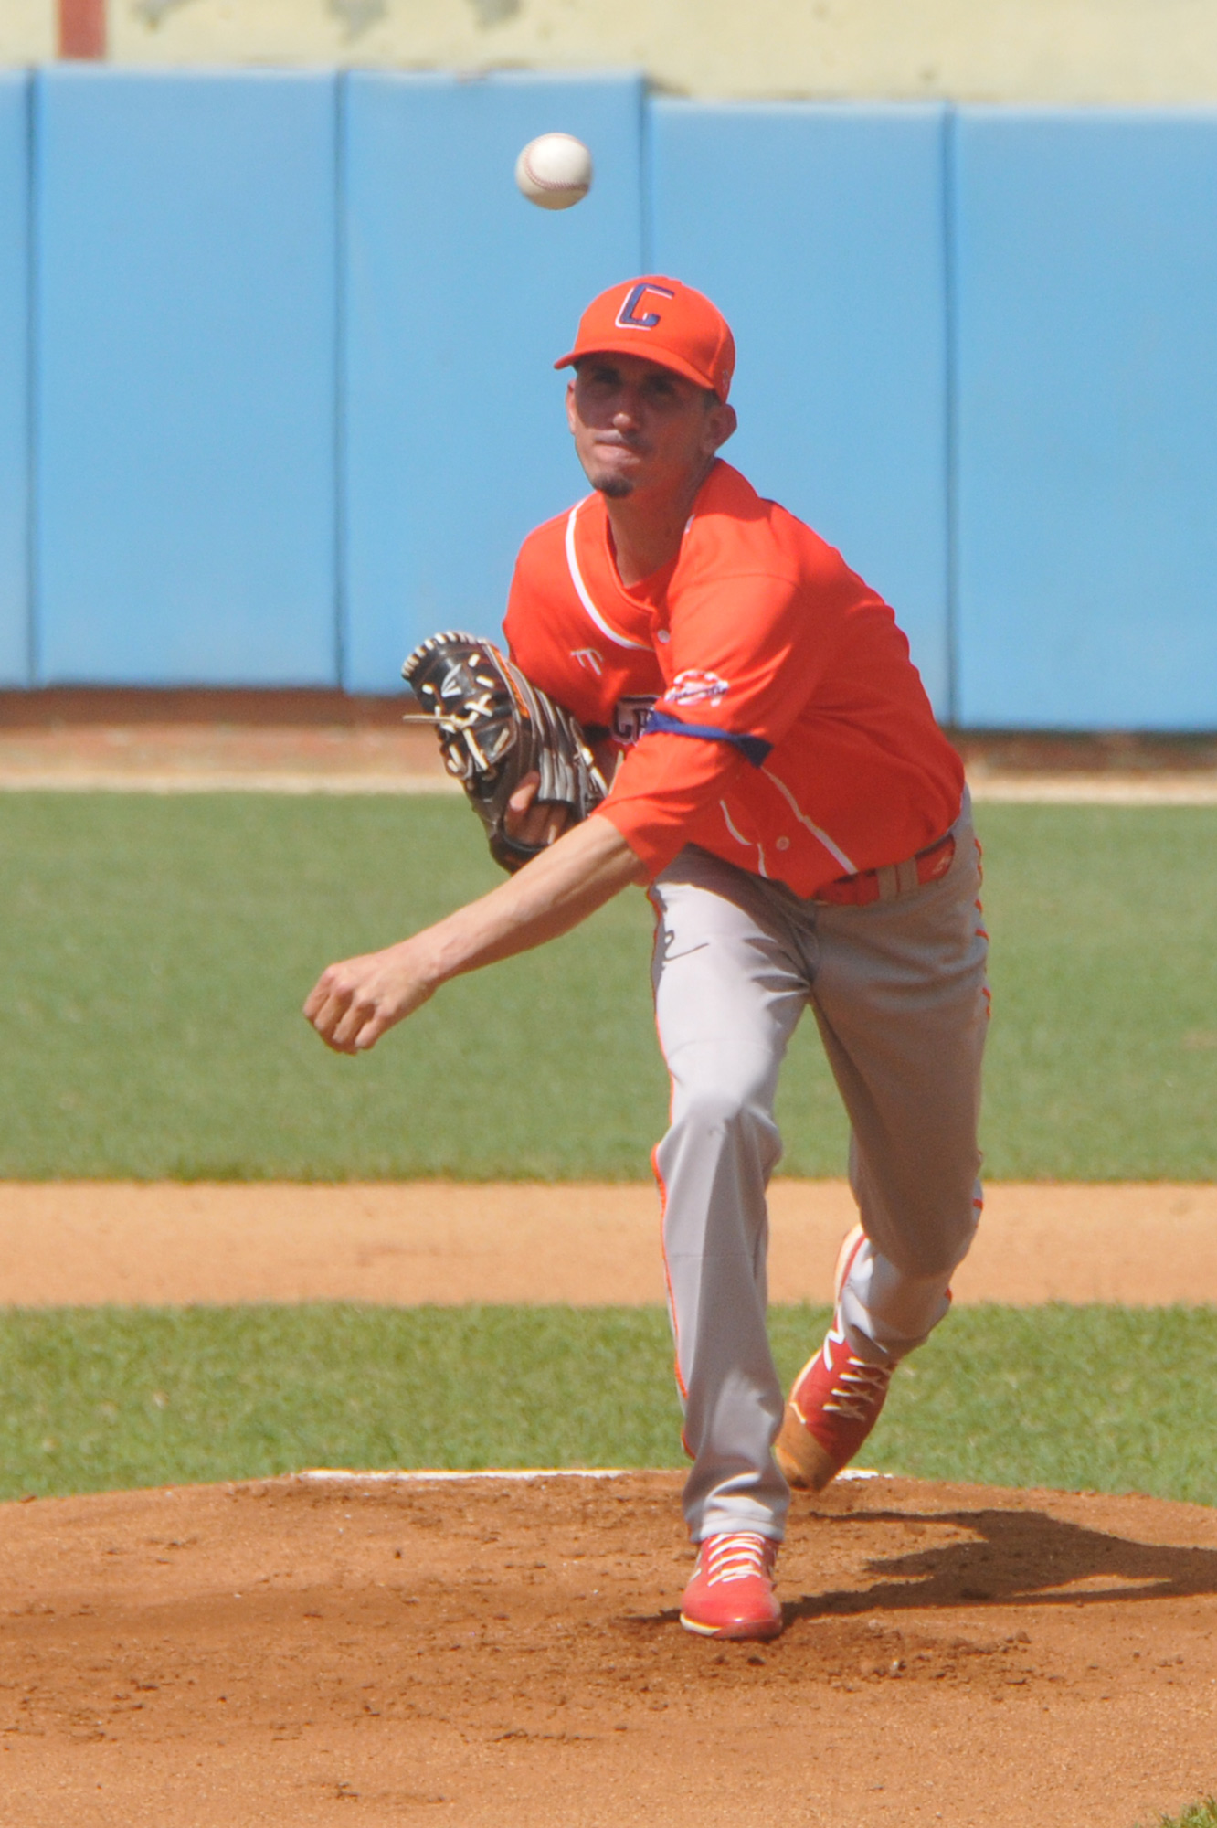
[[[1217,808],[981,806],[987,1172],[1217,1179]]]

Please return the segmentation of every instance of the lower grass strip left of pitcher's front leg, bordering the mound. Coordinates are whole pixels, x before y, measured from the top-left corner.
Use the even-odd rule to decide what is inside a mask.
[[[302,1466],[676,1464],[658,1309],[55,1309],[0,1318],[0,1495]]]

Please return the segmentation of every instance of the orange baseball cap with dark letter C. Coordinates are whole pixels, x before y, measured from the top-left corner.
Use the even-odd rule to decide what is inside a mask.
[[[735,336],[722,311],[705,292],[654,272],[594,298],[579,318],[574,349],[554,367],[570,367],[585,355],[645,356],[709,388],[720,400],[727,399],[735,373]]]

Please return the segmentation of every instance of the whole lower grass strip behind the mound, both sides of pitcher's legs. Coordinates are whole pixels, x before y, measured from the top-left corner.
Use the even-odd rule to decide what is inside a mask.
[[[826,1309],[775,1307],[782,1380]],[[0,1495],[303,1466],[682,1466],[661,1309],[9,1309]],[[1186,1419],[1186,1426],[1182,1422]],[[866,1462],[1217,1503],[1217,1309],[974,1307]]]

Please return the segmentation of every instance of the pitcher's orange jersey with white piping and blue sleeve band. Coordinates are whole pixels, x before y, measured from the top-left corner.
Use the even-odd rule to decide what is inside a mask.
[[[528,678],[625,751],[598,815],[651,876],[693,843],[813,896],[959,813],[963,766],[888,605],[722,461],[676,559],[629,590],[599,495],[539,526],[504,629]]]

